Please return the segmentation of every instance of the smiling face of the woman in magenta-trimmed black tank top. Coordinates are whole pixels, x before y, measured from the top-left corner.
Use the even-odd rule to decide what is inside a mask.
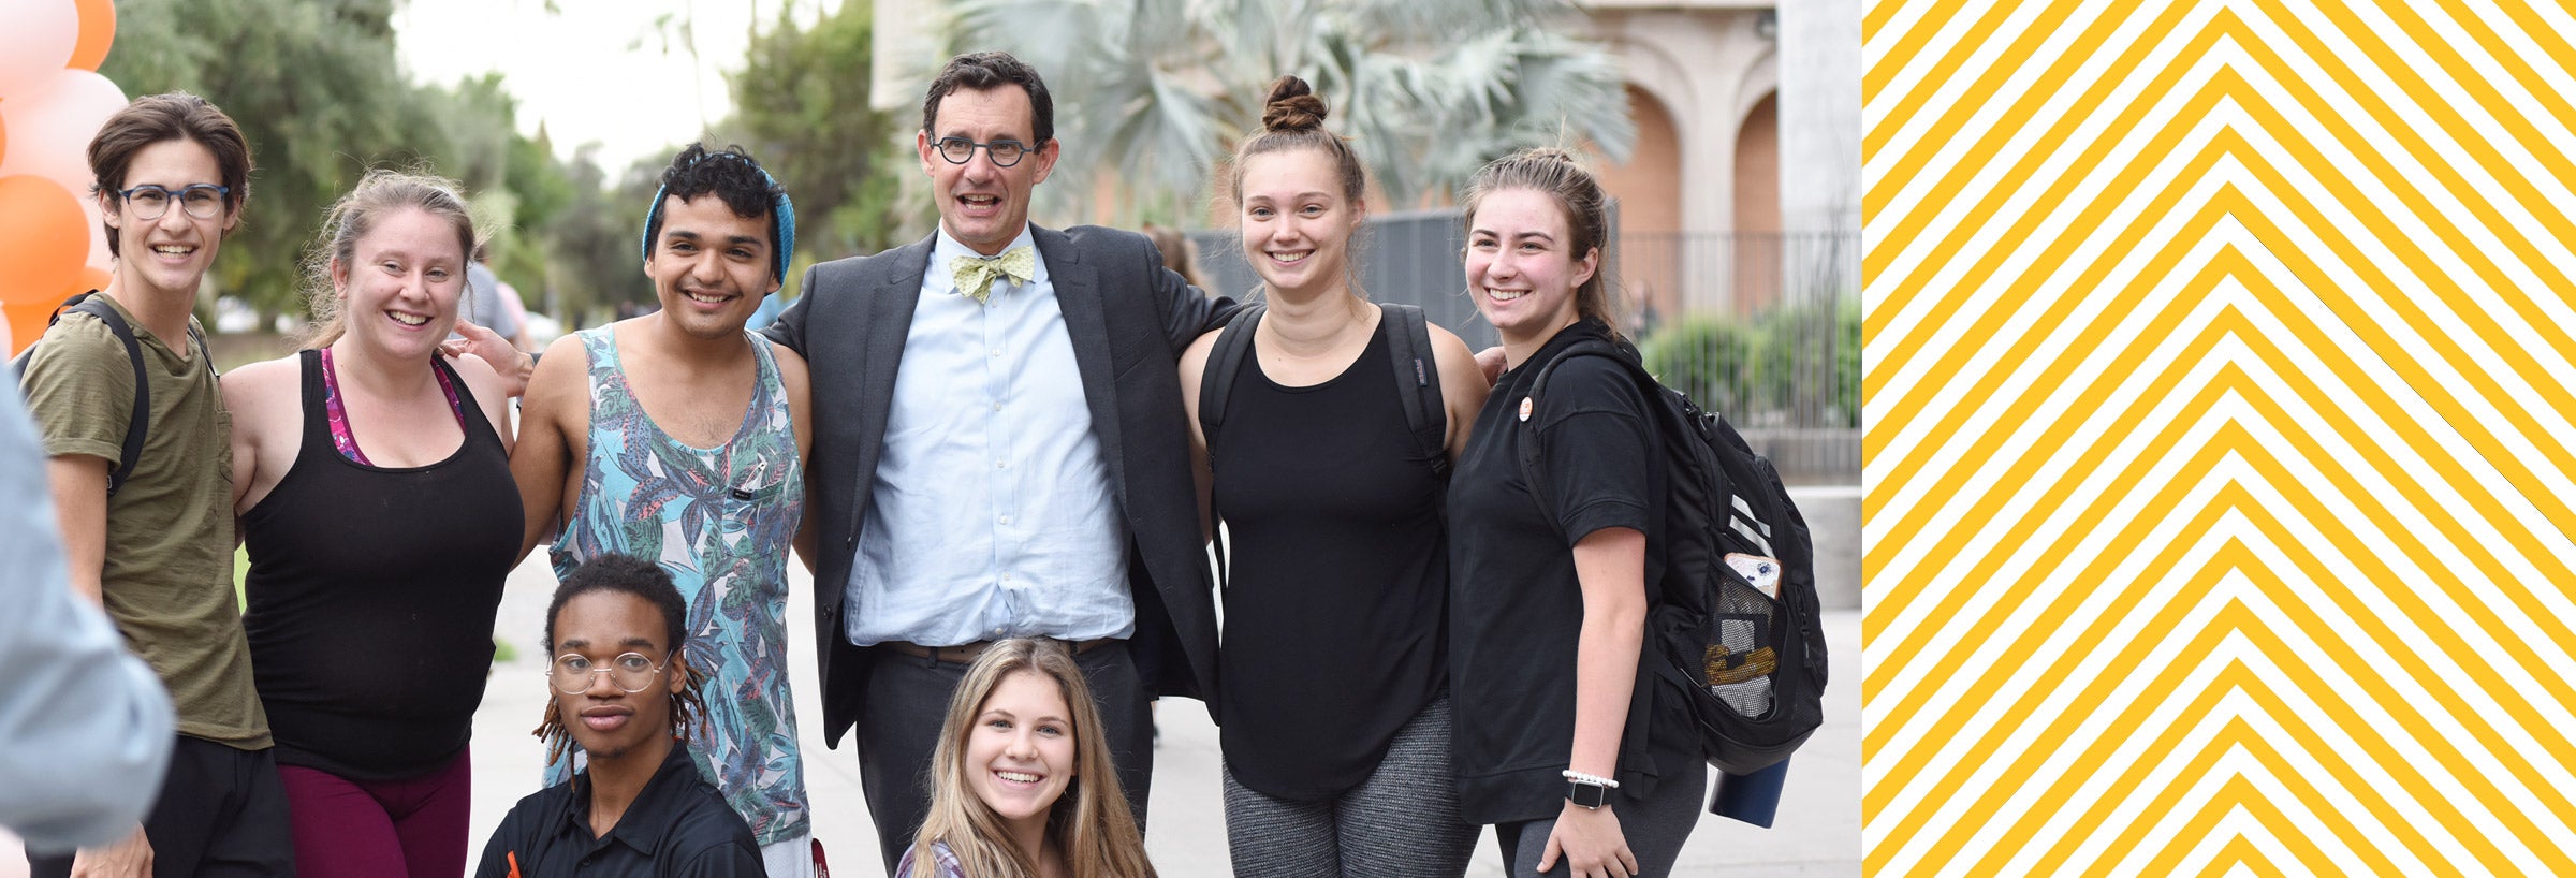
[[[345,337],[397,358],[428,358],[456,327],[466,250],[456,224],[422,209],[384,214],[348,263],[332,265]]]

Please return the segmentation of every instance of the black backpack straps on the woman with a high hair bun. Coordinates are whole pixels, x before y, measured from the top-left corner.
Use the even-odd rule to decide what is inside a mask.
[[[1226,422],[1226,399],[1234,394],[1234,376],[1244,371],[1244,358],[1252,355],[1252,327],[1262,324],[1262,312],[1260,304],[1234,312],[1226,327],[1216,332],[1216,348],[1208,348],[1208,368],[1198,378],[1198,433],[1208,438],[1208,471],[1216,471],[1218,461],[1224,461],[1216,445],[1216,427]],[[1386,335],[1386,345],[1388,360],[1396,363],[1396,397],[1404,402],[1404,425],[1414,433],[1422,458],[1432,466],[1432,479],[1448,487],[1448,409],[1440,407],[1440,366],[1432,363],[1430,319],[1412,304],[1381,304],[1378,312],[1396,327]],[[1432,497],[1432,510],[1445,523],[1448,492],[1440,489]],[[1226,577],[1224,543],[1216,551],[1216,577],[1218,582]]]

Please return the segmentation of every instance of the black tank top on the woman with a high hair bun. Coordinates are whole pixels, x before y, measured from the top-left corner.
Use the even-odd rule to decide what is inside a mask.
[[[1445,685],[1448,543],[1386,332],[1316,386],[1244,358],[1216,507],[1231,538],[1218,742],[1234,780],[1316,801],[1368,780]]]

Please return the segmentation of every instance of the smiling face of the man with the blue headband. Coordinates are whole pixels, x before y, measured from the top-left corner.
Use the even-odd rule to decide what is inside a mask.
[[[770,270],[770,216],[737,216],[714,193],[662,198],[662,229],[644,260],[662,317],[696,337],[734,337],[778,291]]]

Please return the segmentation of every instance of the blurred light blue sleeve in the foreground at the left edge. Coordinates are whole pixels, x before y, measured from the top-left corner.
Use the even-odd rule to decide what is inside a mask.
[[[134,832],[170,744],[170,695],[108,615],[72,595],[44,448],[0,391],[0,827],[70,852]]]

